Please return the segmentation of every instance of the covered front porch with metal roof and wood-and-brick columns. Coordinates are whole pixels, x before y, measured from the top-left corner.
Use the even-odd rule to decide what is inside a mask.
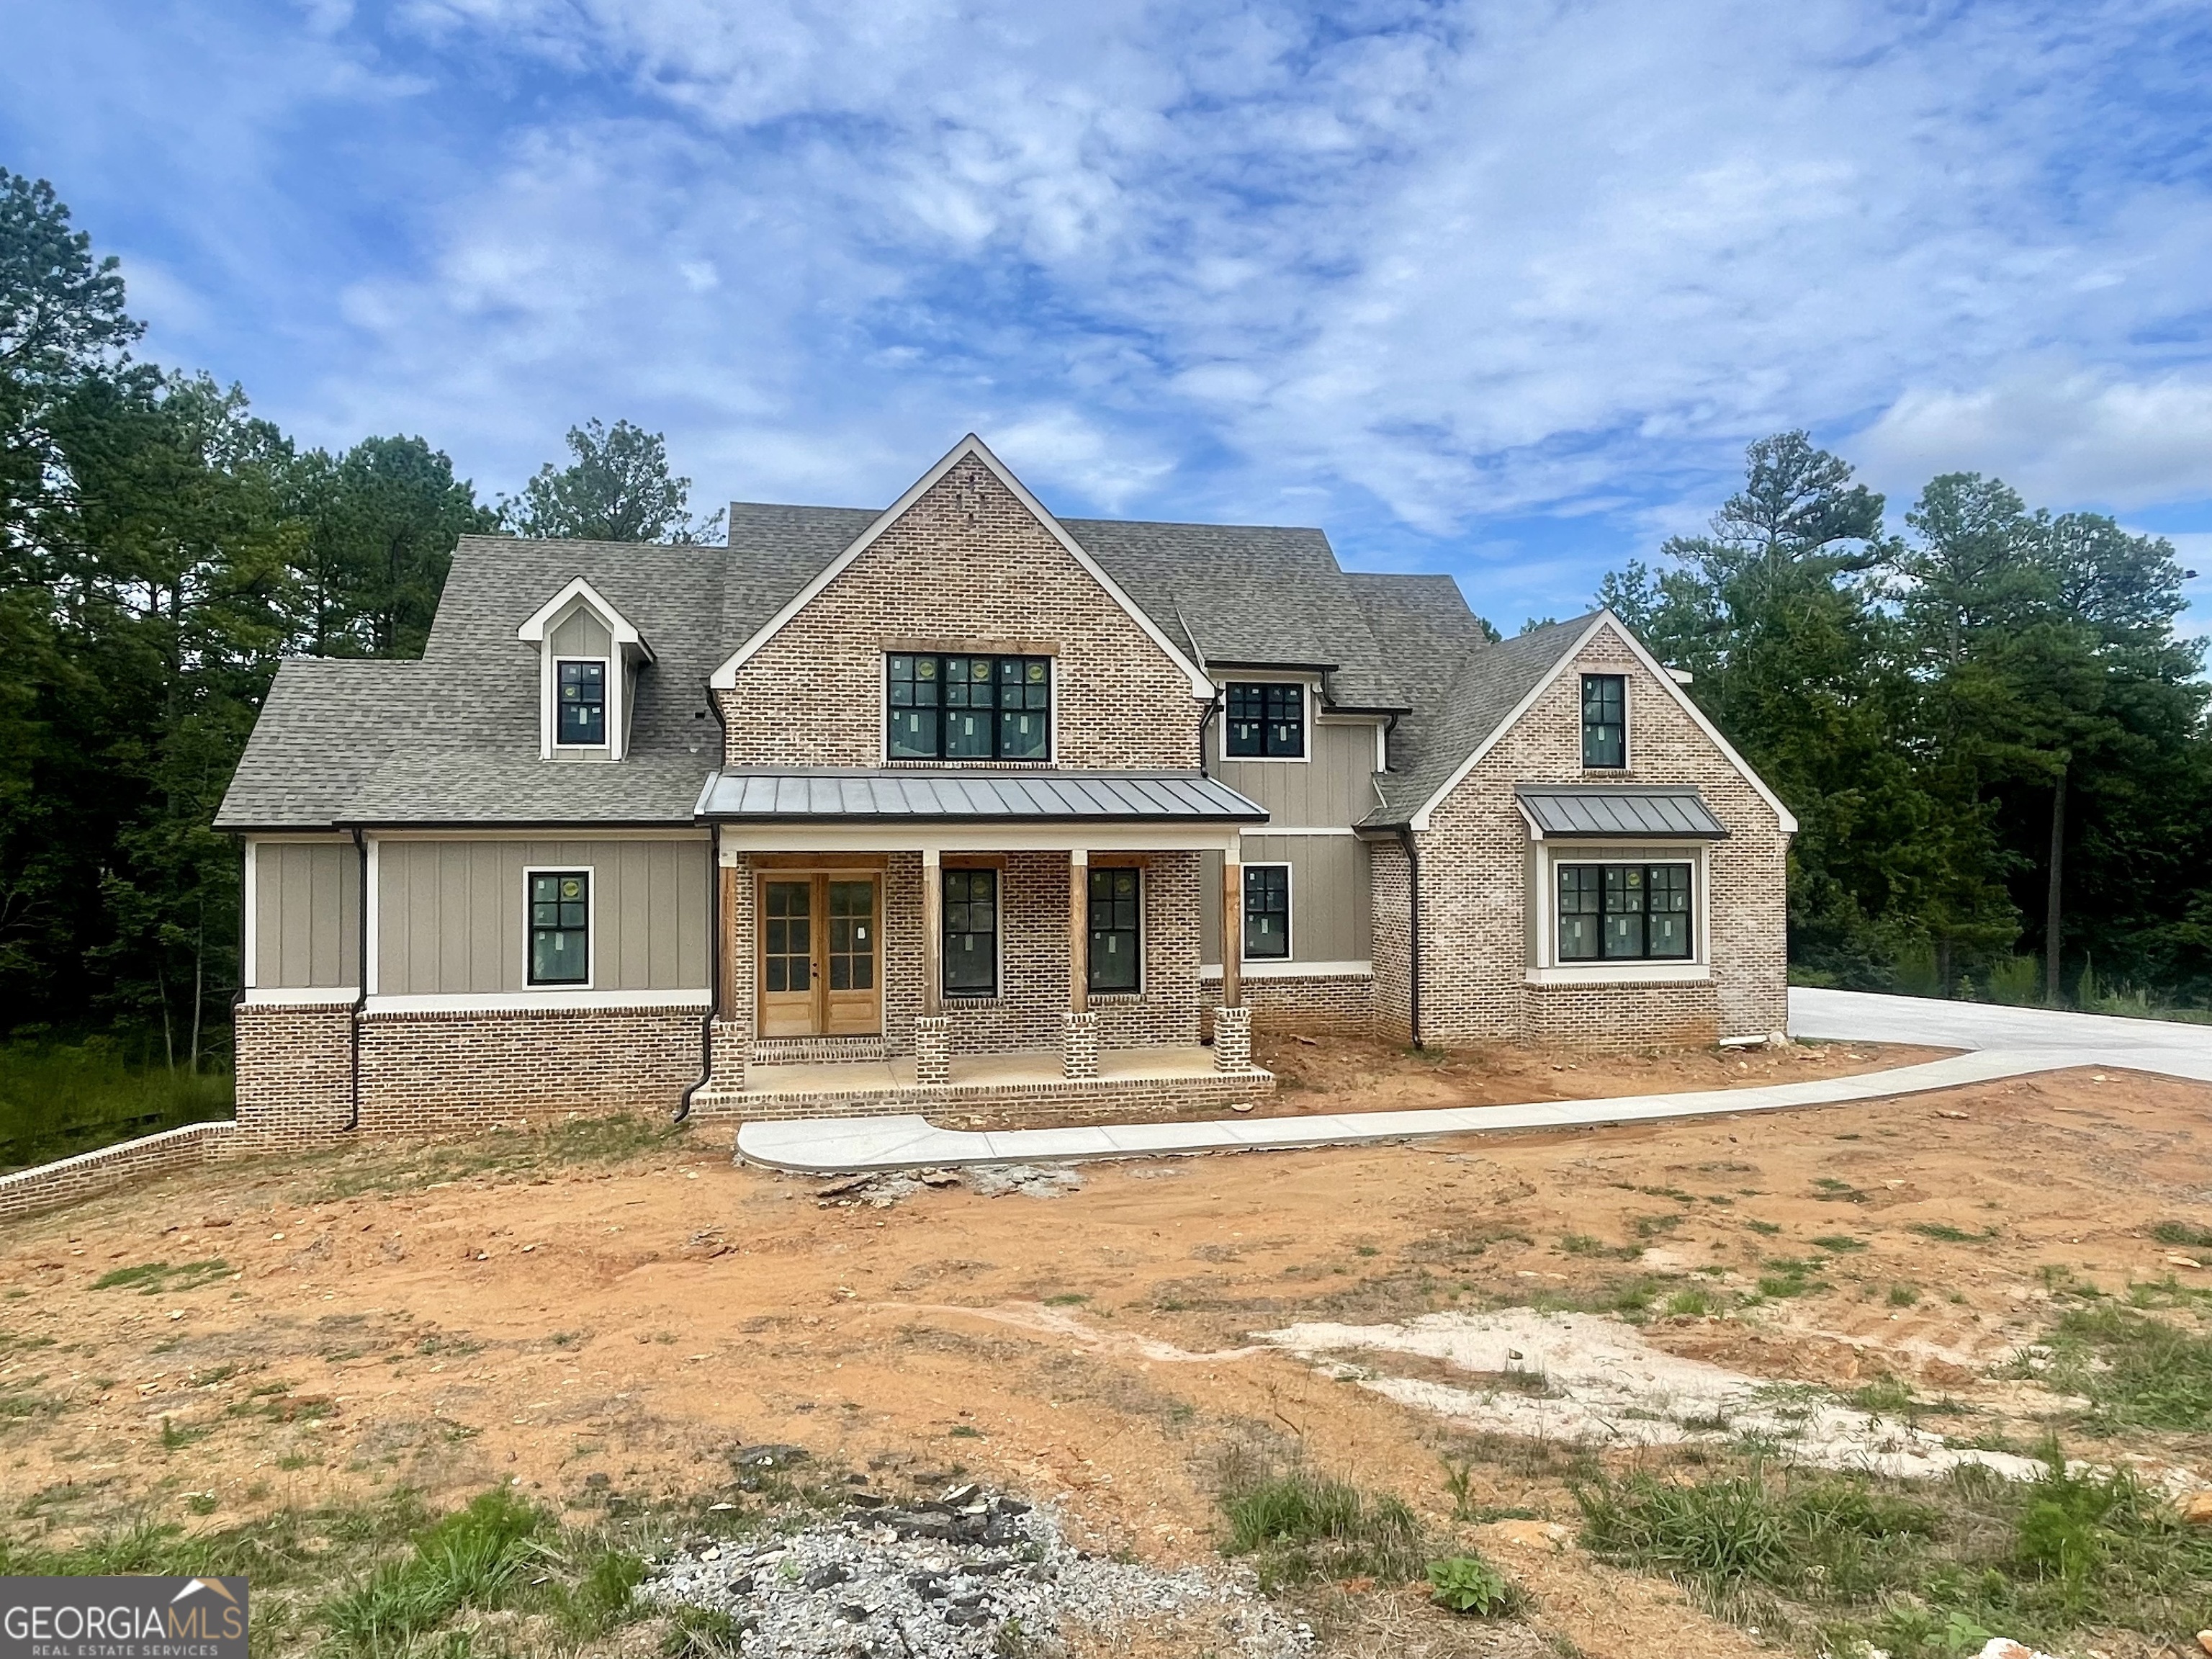
[[[1022,1119],[1250,1104],[1239,832],[1197,774],[721,772],[695,1113]],[[1223,858],[1219,887],[1203,854]],[[1210,1046],[1203,1037],[1210,1035]]]

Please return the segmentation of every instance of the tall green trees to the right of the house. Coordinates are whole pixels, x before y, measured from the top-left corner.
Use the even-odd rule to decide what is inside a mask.
[[[2192,575],[1980,473],[1933,478],[1893,531],[1785,431],[1705,535],[1599,597],[1796,812],[1798,980],[2148,1006],[2212,998]]]

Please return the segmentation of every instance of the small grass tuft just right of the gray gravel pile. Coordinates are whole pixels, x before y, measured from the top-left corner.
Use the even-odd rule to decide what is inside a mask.
[[[1230,1486],[1223,1555],[1250,1555],[1263,1588],[1312,1579],[1374,1577],[1405,1584],[1422,1575],[1420,1520],[1405,1500],[1294,1467]]]

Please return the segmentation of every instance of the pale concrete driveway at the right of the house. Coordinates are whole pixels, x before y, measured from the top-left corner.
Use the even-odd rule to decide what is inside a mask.
[[[1790,991],[1790,1035],[1924,1042],[1931,1048],[2037,1055],[2051,1066],[2126,1066],[2212,1082],[2212,1026],[2177,1020],[2121,1020],[2110,1013],[2000,1009],[1986,1002],[1801,987]]]

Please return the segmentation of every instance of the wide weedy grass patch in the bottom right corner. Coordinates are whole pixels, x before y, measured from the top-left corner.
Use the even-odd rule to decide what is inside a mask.
[[[1991,1632],[2051,1652],[2112,1632],[2143,1650],[2194,1628],[2212,1590],[2212,1540],[2130,1473],[2039,1480],[1962,1467],[1907,1486],[1874,1475],[1652,1471],[1575,1486],[1584,1544],[1668,1573],[1767,1639],[1827,1652],[1958,1659]],[[2126,1646],[2126,1644],[2121,1644]]]

